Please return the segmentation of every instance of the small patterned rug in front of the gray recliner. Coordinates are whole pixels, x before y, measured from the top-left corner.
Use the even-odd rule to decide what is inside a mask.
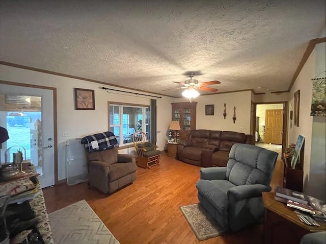
[[[206,210],[199,204],[180,207],[183,216],[194,231],[199,241],[221,235],[218,223],[210,217]]]

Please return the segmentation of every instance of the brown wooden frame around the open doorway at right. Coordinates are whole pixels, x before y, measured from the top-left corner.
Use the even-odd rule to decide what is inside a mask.
[[[254,106],[254,113],[251,117],[251,128],[253,128],[253,137],[255,138],[255,128],[256,128],[256,113],[257,113],[257,105],[258,104],[283,104],[283,129],[282,129],[282,152],[286,148],[286,139],[287,139],[287,120],[288,120],[288,102],[287,101],[279,101],[279,102],[261,102],[255,103],[252,101],[252,105]],[[283,159],[283,153],[281,155]]]

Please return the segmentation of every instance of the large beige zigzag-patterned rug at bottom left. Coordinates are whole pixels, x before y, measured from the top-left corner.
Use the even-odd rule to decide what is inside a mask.
[[[85,200],[49,214],[56,244],[119,244]]]

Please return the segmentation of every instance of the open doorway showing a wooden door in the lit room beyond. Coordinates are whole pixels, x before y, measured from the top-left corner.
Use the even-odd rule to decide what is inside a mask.
[[[282,159],[286,143],[287,102],[257,103],[255,113],[255,145],[279,154]]]

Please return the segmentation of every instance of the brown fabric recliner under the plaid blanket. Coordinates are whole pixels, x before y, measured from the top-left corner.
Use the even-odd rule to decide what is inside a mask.
[[[118,154],[118,149],[87,154],[89,186],[112,193],[136,179],[137,165],[130,154]]]

